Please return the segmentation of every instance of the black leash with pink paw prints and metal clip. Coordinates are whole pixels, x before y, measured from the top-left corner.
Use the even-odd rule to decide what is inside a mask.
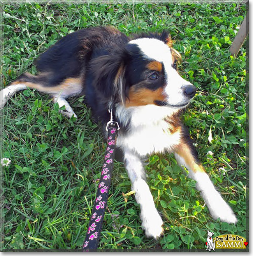
[[[96,251],[102,229],[102,224],[107,205],[109,189],[111,185],[111,173],[115,155],[115,146],[117,131],[120,129],[118,122],[112,119],[112,109],[109,109],[111,119],[106,125],[108,132],[107,147],[105,152],[104,164],[102,167],[101,177],[98,184],[96,200],[93,205],[90,223],[83,244],[83,252]]]

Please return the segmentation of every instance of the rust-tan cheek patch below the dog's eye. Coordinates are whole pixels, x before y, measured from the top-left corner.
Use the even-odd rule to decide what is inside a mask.
[[[162,94],[162,92],[162,87],[155,91],[147,88],[135,91],[134,87],[131,87],[128,96],[129,100],[126,99],[126,108],[154,104],[154,101],[163,101],[165,100],[165,96]]]

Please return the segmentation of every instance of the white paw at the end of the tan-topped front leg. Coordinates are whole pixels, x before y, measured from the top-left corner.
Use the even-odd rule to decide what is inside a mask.
[[[204,197],[204,196],[203,196]],[[215,191],[215,196],[210,199],[209,196],[205,196],[207,206],[210,214],[214,219],[220,218],[221,221],[227,223],[236,223],[237,219],[231,207],[223,200],[220,194]]]

